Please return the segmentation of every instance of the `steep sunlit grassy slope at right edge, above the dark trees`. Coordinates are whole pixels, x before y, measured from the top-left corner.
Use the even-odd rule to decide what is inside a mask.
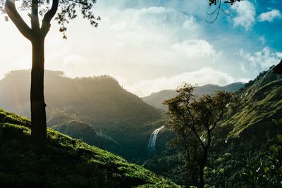
[[[272,120],[278,120],[282,115],[282,76],[272,70],[264,71],[237,94],[235,106],[222,123],[231,130],[227,139],[250,134],[262,137],[266,130],[275,133]]]

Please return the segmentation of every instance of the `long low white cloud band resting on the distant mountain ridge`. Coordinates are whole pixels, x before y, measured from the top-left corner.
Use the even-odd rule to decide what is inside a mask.
[[[136,82],[135,84],[128,84],[126,80],[122,77],[117,77],[125,89],[129,92],[133,92],[138,96],[148,96],[152,92],[159,92],[164,89],[176,89],[183,82],[189,84],[219,84],[226,85],[238,81],[246,81],[249,79],[239,79],[235,80],[231,75],[223,73],[220,70],[215,70],[214,68],[205,67],[200,70],[193,72],[186,72],[180,75],[174,75],[172,77],[158,77],[152,80],[144,80],[141,82]]]

